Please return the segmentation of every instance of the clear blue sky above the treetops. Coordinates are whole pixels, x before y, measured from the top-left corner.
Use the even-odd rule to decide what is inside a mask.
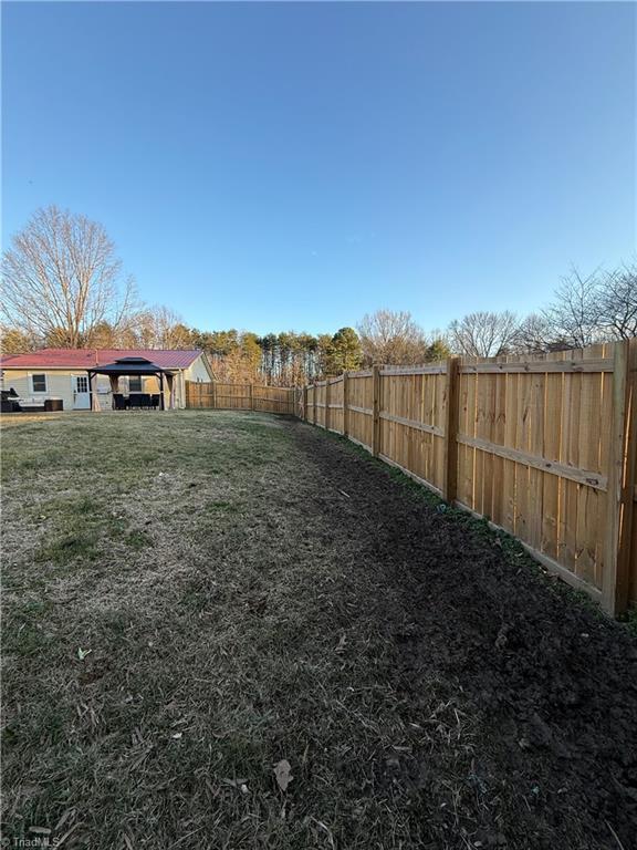
[[[3,237],[102,221],[199,328],[426,329],[635,252],[628,3],[4,3]]]

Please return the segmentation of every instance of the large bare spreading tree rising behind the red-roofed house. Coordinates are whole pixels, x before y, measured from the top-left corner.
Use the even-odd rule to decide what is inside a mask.
[[[2,319],[29,336],[91,345],[98,325],[122,324],[133,299],[113,242],[86,216],[39,209],[4,252]]]

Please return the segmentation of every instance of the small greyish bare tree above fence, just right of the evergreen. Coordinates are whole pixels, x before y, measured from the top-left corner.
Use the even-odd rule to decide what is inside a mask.
[[[449,343],[458,354],[494,357],[505,354],[516,343],[520,322],[515,313],[477,312],[449,325]]]

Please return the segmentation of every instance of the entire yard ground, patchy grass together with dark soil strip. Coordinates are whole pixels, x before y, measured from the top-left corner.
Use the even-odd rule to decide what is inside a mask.
[[[507,538],[268,415],[2,454],[6,838],[637,847],[637,644]]]

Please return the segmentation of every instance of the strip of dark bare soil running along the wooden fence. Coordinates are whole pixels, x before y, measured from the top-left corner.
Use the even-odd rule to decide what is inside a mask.
[[[349,497],[317,499],[322,509],[367,541],[369,563],[400,591],[378,629],[398,646],[391,684],[405,716],[434,670],[461,694],[477,742],[458,810],[466,846],[637,848],[637,641],[510,538],[343,439],[306,428],[297,438],[326,489]],[[400,754],[383,777],[411,789],[410,817],[435,848],[448,820],[430,806],[431,755]]]

